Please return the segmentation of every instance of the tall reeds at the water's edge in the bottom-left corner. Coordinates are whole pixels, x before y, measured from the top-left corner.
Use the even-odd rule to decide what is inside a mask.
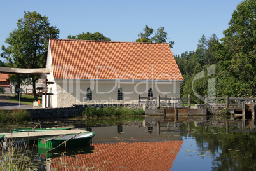
[[[17,144],[15,141],[4,140],[3,144],[0,144],[0,170],[46,170],[46,165],[52,163],[50,158],[43,159],[43,157],[35,155],[34,146],[31,151],[27,149],[28,145],[26,143]],[[58,162],[58,168],[50,168],[50,170],[92,170],[86,165],[80,167],[77,162],[78,158],[66,156],[64,152],[61,153],[60,161]],[[103,169],[95,168],[94,170]]]

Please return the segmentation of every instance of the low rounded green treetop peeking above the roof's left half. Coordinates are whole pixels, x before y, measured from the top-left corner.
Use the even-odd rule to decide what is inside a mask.
[[[110,38],[103,36],[100,32],[82,32],[76,36],[69,35],[67,39],[76,39],[76,40],[96,40],[96,41],[111,41]]]

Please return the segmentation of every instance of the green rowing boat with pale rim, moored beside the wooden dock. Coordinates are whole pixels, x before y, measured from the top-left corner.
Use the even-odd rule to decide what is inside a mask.
[[[82,132],[79,134],[60,135],[57,137],[47,137],[38,139],[38,147],[47,150],[59,147],[83,147],[90,144],[94,132]],[[64,143],[65,142],[65,143]],[[60,145],[62,144],[62,145]]]

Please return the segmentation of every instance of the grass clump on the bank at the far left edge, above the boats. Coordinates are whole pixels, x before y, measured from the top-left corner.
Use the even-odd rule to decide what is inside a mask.
[[[30,121],[31,115],[24,109],[3,110],[0,109],[0,122],[21,122]]]

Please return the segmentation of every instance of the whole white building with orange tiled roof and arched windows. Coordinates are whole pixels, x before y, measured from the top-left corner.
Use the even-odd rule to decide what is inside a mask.
[[[183,82],[167,43],[50,39],[46,67],[55,83],[48,85],[54,95],[47,107],[178,98]]]

